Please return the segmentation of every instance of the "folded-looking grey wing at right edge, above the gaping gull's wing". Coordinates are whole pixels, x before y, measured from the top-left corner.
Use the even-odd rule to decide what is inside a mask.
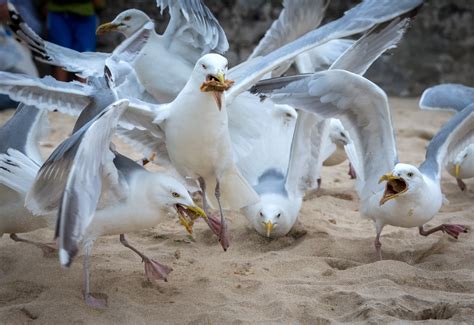
[[[461,84],[442,84],[428,88],[423,92],[420,108],[459,112],[472,103],[474,103],[474,87]]]

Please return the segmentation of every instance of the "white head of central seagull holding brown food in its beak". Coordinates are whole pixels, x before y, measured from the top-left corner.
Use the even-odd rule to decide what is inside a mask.
[[[211,53],[201,57],[194,66],[192,78],[201,83],[200,90],[209,93],[216,101],[217,108],[222,108],[222,94],[234,83],[226,80],[228,62],[225,57]]]

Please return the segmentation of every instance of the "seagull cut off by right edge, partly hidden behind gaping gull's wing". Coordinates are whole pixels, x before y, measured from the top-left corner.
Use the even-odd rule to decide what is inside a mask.
[[[472,103],[474,103],[474,88],[460,84],[442,84],[423,92],[420,108],[460,112]],[[463,179],[474,177],[474,142],[453,157],[446,165],[446,170],[456,177],[461,191],[465,191],[466,184]]]

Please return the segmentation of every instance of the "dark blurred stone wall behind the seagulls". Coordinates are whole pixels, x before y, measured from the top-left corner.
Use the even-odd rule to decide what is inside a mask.
[[[41,1],[33,1],[41,8]],[[395,0],[394,0],[395,1]],[[280,0],[204,0],[226,31],[231,66],[245,60],[282,9]],[[332,0],[324,22],[340,17],[360,1]],[[160,14],[154,0],[108,0],[98,11],[101,23],[121,11],[145,11],[163,31],[167,12]],[[45,20],[45,13],[39,9]],[[323,22],[323,23],[324,23]],[[46,36],[46,35],[44,35]],[[119,34],[97,38],[97,50],[110,52],[122,40]],[[41,67],[40,74],[49,68]],[[456,82],[474,85],[474,1],[425,1],[398,48],[383,56],[366,76],[390,95],[419,96],[429,86]]]

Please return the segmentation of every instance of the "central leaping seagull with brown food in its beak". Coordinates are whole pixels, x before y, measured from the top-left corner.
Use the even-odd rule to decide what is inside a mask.
[[[227,60],[219,54],[206,54],[197,61],[177,97],[170,103],[160,105],[162,109],[158,110],[159,116],[153,117],[156,112],[150,110],[143,111],[142,114],[139,110],[132,110],[136,129],[147,132],[146,143],[138,136],[134,140],[142,142],[144,146],[153,146],[158,151],[158,157],[169,160],[170,165],[181,176],[197,181],[201,192],[207,192],[203,197],[203,207],[206,211],[208,199],[213,206],[219,207],[220,224],[213,223],[210,226],[219,235],[219,241],[226,249],[228,238],[225,236],[226,225],[222,210],[240,209],[259,199],[238,171],[234,160],[251,151],[252,142],[258,139],[258,132],[261,131],[262,121],[255,118],[254,113],[258,110],[248,110],[251,107],[249,103],[258,105],[258,102],[245,91],[264,75],[298,54],[331,39],[363,32],[376,24],[410,12],[421,3],[420,0],[396,3],[388,0],[364,1],[340,19],[263,57],[250,59],[234,67],[228,76]],[[233,85],[232,81],[235,81]],[[232,103],[242,109],[227,110],[227,106],[231,108]],[[156,133],[159,133],[157,129],[163,132],[159,136],[150,135],[149,129]],[[150,141],[153,136],[156,141]],[[209,220],[214,220],[211,215]]]

